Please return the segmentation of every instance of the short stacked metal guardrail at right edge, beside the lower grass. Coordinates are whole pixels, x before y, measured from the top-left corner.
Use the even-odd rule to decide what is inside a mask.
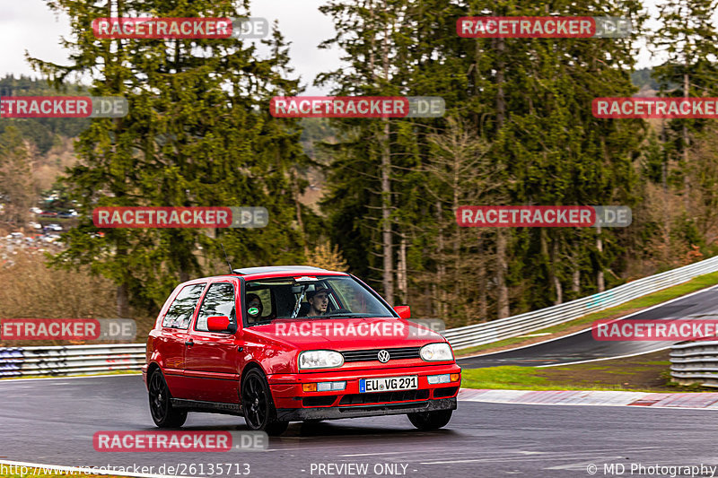
[[[670,377],[680,385],[718,387],[718,341],[673,345],[670,348]]]

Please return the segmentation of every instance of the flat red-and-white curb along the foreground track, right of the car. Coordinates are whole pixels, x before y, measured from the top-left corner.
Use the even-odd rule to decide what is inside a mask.
[[[461,388],[462,402],[493,404],[652,406],[660,408],[718,409],[718,393],[654,394],[582,390],[477,390]]]

